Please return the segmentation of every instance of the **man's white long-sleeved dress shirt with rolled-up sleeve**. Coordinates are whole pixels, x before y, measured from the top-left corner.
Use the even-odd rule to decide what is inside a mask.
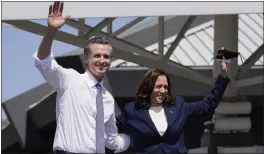
[[[96,79],[86,71],[80,74],[74,69],[58,65],[53,53],[40,60],[34,53],[35,66],[44,79],[57,91],[57,128],[53,150],[73,153],[96,152]],[[129,136],[118,134],[114,110],[114,98],[102,86],[104,102],[105,146],[115,153],[127,150]]]

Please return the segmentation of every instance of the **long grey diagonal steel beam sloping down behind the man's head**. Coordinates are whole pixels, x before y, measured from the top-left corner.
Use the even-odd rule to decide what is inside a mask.
[[[38,34],[38,35],[45,35],[45,26],[39,25],[30,21],[5,21],[8,24],[14,25],[20,29]],[[89,27],[89,26],[86,26]],[[89,27],[90,28],[90,27]],[[211,85],[212,84],[212,78],[206,77],[200,73],[197,73],[196,71],[192,70],[189,67],[185,67],[183,65],[171,62],[171,61],[165,61],[165,62],[160,62],[158,59],[158,56],[150,53],[149,51],[145,50],[144,48],[135,46],[131,43],[128,43],[124,40],[118,39],[116,37],[111,37],[109,34],[104,33],[104,32],[99,32],[100,35],[107,36],[108,39],[114,44],[114,47],[117,48],[115,52],[118,52],[119,50],[125,50],[122,52],[118,52],[118,54],[114,54],[114,57],[118,57],[120,59],[124,59],[126,61],[133,61],[137,64],[145,65],[150,68],[158,67],[158,68],[163,68],[165,69],[168,73],[171,73],[173,75],[178,75],[182,76],[191,80],[196,80],[198,82]],[[84,39],[78,36],[74,36],[72,34],[68,34],[66,32],[58,31],[57,35],[55,37],[56,40],[69,43],[78,47],[83,48],[84,47]],[[126,55],[126,56],[119,56],[121,55]],[[140,57],[143,59],[143,63],[139,58],[133,58],[136,55],[137,57]],[[160,65],[156,65],[160,64]]]

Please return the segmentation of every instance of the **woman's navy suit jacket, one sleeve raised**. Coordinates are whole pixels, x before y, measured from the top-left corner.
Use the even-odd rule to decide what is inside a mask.
[[[134,102],[126,104],[123,114],[117,117],[117,127],[132,137],[137,153],[187,153],[183,135],[186,119],[192,113],[213,111],[222,99],[228,82],[228,78],[218,76],[211,92],[198,102],[185,103],[183,97],[177,96],[175,105],[164,107],[168,127],[163,136],[157,131],[148,109],[137,108]]]

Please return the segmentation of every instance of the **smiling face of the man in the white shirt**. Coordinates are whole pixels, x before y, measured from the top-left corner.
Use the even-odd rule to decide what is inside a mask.
[[[91,44],[90,55],[86,56],[88,70],[97,79],[102,80],[111,64],[111,46],[106,44]]]

